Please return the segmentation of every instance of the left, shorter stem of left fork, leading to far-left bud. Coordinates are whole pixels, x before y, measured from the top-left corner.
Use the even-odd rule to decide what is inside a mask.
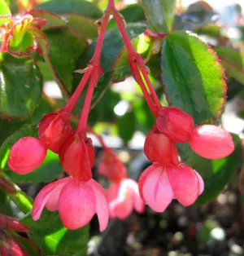
[[[92,68],[89,68],[85,71],[84,76],[81,78],[81,82],[77,86],[75,92],[72,94],[71,98],[68,100],[68,103],[64,106],[63,111],[68,113],[72,112],[72,109],[75,107],[77,100],[79,99],[81,92],[84,90],[86,82],[88,81],[92,73]]]

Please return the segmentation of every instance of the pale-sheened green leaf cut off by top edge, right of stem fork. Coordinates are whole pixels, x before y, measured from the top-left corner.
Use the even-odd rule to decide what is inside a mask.
[[[171,30],[175,15],[175,0],[142,0],[142,7],[150,29],[156,33],[167,33]]]

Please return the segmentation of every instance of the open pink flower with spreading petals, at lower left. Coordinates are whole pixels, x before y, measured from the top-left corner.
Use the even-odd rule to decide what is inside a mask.
[[[100,231],[107,227],[106,194],[94,179],[84,182],[68,177],[48,184],[34,201],[34,220],[40,218],[44,206],[50,211],[59,210],[63,226],[68,229],[84,227],[94,214],[98,214]]]

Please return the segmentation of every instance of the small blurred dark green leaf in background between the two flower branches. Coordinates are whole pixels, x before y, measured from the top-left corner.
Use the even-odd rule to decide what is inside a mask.
[[[136,131],[135,114],[133,111],[125,113],[124,116],[118,118],[118,128],[120,138],[124,143],[128,143],[132,139]]]

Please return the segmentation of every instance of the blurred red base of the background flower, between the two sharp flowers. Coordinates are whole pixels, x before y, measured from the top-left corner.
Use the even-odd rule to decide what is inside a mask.
[[[98,173],[102,174],[113,182],[120,182],[127,177],[127,170],[120,159],[109,149],[105,149],[102,161],[98,166]]]

